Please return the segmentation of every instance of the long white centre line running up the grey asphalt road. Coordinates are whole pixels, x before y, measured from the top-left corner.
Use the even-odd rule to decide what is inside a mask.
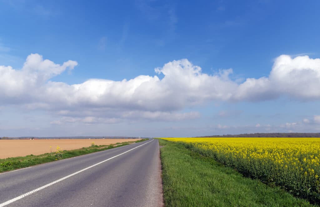
[[[149,141],[149,142],[152,142],[152,141],[153,141],[153,139],[152,139],[151,141]],[[144,144],[142,144],[142,145],[148,144],[149,142],[146,142],[146,143],[144,143]],[[138,147],[140,147],[140,146],[142,146],[142,145],[139,145],[139,146],[137,146],[137,147],[134,147],[134,148],[132,148],[131,150],[134,150],[134,149],[136,149],[136,148],[138,148]],[[125,151],[124,153],[130,152],[131,150]],[[59,180],[53,181],[52,183],[49,183],[49,184],[44,185],[44,186],[41,186],[41,187],[39,187],[39,188],[37,188],[37,189],[35,189],[35,190],[32,190],[32,191],[30,191],[30,192],[28,192],[28,193],[25,193],[25,194],[23,194],[23,195],[20,195],[20,196],[18,196],[18,197],[12,198],[12,199],[9,200],[9,201],[6,201],[6,202],[4,202],[4,203],[0,203],[0,207],[5,206],[5,205],[8,205],[8,204],[10,204],[10,203],[13,203],[13,202],[15,202],[15,201],[17,201],[17,200],[20,200],[20,199],[23,198],[23,197],[26,197],[26,196],[28,196],[28,195],[31,195],[31,194],[33,194],[33,193],[35,193],[35,192],[37,192],[37,191],[39,191],[39,190],[42,190],[42,189],[44,189],[44,188],[46,188],[46,187],[52,186],[53,184],[56,184],[56,183],[58,183],[58,182],[60,182],[60,181],[62,181],[62,180],[64,180],[64,179],[70,178],[71,176],[74,176],[74,175],[76,175],[76,174],[78,174],[78,173],[80,173],[80,172],[83,172],[84,170],[88,170],[88,169],[90,169],[90,168],[92,168],[92,167],[94,167],[94,166],[100,165],[101,163],[106,162],[106,161],[108,161],[108,160],[111,160],[111,159],[113,159],[113,158],[115,158],[115,157],[118,157],[118,156],[120,156],[120,155],[122,155],[122,154],[124,154],[124,153],[121,153],[121,154],[118,154],[118,155],[116,155],[116,156],[110,157],[110,158],[108,158],[107,160],[98,162],[98,163],[96,163],[96,164],[94,164],[94,165],[91,165],[91,166],[89,166],[89,167],[87,167],[87,168],[84,168],[84,169],[79,170],[79,171],[77,171],[77,172],[75,172],[75,173],[72,173],[72,174],[70,174],[70,175],[68,175],[68,176],[66,176],[66,177],[60,178]]]

